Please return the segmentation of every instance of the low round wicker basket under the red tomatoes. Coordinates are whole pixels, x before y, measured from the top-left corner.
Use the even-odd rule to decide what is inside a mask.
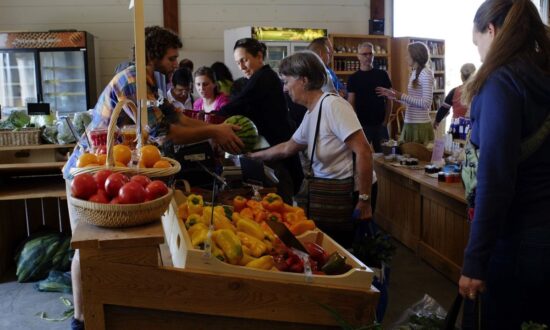
[[[172,193],[170,189],[168,194],[141,204],[100,204],[72,196],[67,199],[78,220],[100,227],[123,228],[159,220],[170,205]]]

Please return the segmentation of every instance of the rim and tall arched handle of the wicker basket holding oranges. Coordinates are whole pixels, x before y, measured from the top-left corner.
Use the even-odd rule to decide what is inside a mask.
[[[81,168],[71,168],[71,175],[75,176],[82,173],[96,173],[99,170],[109,169],[112,172],[119,172],[128,175],[141,174],[151,178],[160,178],[167,177],[178,173],[181,170],[180,163],[172,158],[162,157],[162,160],[168,161],[172,166],[169,168],[138,168],[138,167],[120,167],[114,166],[115,161],[113,157],[113,146],[115,142],[115,132],[116,132],[116,122],[122,108],[127,105],[129,106],[134,113],[137,112],[135,104],[131,100],[122,100],[119,101],[113,110],[111,120],[109,122],[109,127],[107,129],[107,159],[105,161],[105,166],[87,166]],[[142,130],[143,131],[143,130]],[[141,138],[141,137],[138,137]]]

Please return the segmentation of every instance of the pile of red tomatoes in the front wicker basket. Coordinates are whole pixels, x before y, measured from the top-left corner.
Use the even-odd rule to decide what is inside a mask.
[[[139,174],[128,177],[110,170],[79,174],[71,183],[73,197],[102,204],[139,204],[167,193],[168,187],[160,180]]]

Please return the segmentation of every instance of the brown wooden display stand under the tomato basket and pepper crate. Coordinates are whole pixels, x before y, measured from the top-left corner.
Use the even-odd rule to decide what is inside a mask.
[[[86,329],[339,329],[323,304],[351,324],[373,321],[378,292],[175,268],[163,242],[160,222],[78,224]]]

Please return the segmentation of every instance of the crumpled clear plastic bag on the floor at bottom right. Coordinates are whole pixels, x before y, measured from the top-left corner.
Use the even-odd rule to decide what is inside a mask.
[[[393,330],[440,330],[445,325],[447,311],[429,295],[407,308],[390,329]]]

